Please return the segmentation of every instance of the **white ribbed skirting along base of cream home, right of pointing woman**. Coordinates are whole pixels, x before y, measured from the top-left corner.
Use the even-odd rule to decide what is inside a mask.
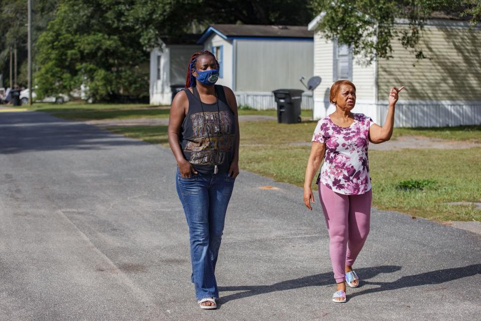
[[[379,105],[380,119],[384,122],[387,104]],[[481,124],[481,102],[409,103],[397,104],[395,127],[442,127]]]

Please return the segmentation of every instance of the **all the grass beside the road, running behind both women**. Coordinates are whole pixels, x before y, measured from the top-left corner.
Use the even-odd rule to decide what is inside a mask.
[[[168,117],[168,107],[114,104],[39,104],[33,110],[75,120]],[[160,112],[159,112],[160,110]],[[156,114],[157,113],[157,114]],[[159,113],[161,116],[159,116]],[[77,116],[74,114],[82,114]],[[276,114],[275,110],[242,110],[240,114]],[[303,111],[308,116],[310,111]],[[106,118],[107,117],[107,118]],[[80,119],[78,119],[80,118]],[[278,124],[276,121],[243,122],[240,125],[240,167],[278,182],[302,187],[316,122]],[[128,137],[168,146],[167,126],[109,128]],[[481,126],[395,128],[393,139],[419,135],[481,142]],[[481,202],[481,148],[403,149],[369,151],[373,205],[437,221],[481,221],[481,211],[450,202]],[[317,188],[313,185],[313,188]]]

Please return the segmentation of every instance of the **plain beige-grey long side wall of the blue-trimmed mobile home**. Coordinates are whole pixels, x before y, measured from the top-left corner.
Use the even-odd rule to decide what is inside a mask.
[[[236,92],[306,88],[301,76],[313,76],[312,41],[236,40]]]

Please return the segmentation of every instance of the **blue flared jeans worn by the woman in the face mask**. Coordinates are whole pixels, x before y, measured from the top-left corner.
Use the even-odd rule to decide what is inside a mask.
[[[195,285],[195,297],[197,300],[218,298],[215,263],[235,179],[220,173],[199,173],[183,178],[177,168],[175,181],[189,226],[191,281]]]

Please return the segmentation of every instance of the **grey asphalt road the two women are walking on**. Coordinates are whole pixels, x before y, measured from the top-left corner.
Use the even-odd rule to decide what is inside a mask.
[[[174,172],[167,148],[0,113],[0,320],[479,320],[479,234],[373,209],[361,287],[333,303],[319,202],[311,213],[300,188],[247,172],[227,211],[219,308],[200,310]]]

